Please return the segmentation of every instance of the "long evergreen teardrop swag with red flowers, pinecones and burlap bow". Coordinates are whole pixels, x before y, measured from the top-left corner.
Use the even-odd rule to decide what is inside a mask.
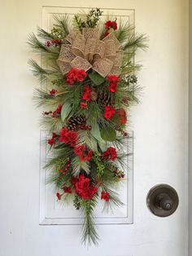
[[[34,99],[45,107],[42,123],[50,131],[49,181],[58,201],[70,198],[84,214],[82,242],[89,244],[98,243],[98,201],[122,205],[116,184],[124,178],[127,110],[140,89],[133,57],[146,48],[146,36],[118,19],[102,21],[102,13],[94,8],[72,22],[55,15],[50,32],[38,28],[28,38],[42,60],[41,66],[29,60],[33,74],[46,82]]]

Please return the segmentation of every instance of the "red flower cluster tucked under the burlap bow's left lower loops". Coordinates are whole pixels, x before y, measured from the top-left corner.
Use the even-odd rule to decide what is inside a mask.
[[[87,77],[87,73],[83,69],[72,68],[66,75],[68,85],[73,85],[75,82],[83,82]]]

